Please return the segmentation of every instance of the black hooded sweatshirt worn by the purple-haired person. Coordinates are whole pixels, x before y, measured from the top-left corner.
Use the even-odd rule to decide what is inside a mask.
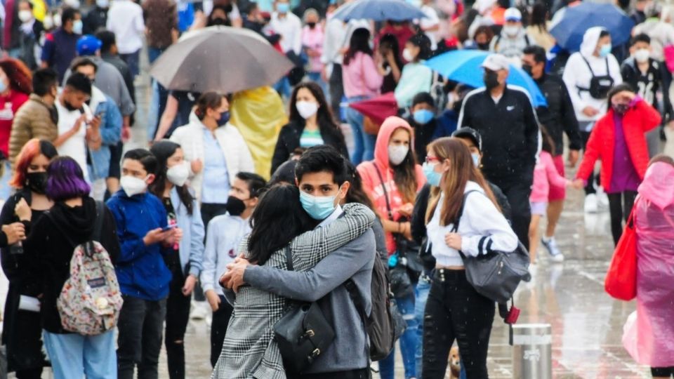
[[[119,241],[112,212],[105,207],[103,227],[98,242],[110,254],[113,264],[119,256]],[[70,260],[75,246],[90,241],[96,221],[96,202],[86,197],[82,206],[57,202],[35,225],[25,241],[37,253],[38,271],[42,280],[42,328],[50,333],[67,333],[61,326],[56,299],[70,277]],[[67,236],[67,237],[66,237]]]

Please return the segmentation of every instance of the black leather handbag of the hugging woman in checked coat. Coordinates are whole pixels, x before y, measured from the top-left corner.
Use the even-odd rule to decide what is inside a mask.
[[[293,260],[286,247],[288,270]],[[274,325],[274,338],[279,345],[286,371],[302,373],[335,339],[335,331],[317,302],[293,302]]]

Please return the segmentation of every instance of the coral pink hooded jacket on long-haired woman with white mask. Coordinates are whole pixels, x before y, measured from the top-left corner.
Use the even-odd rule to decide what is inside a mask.
[[[370,195],[374,207],[381,218],[388,218],[388,207],[386,206],[386,197],[384,194],[385,187],[394,221],[402,218],[402,215],[397,212],[397,209],[406,203],[402,197],[402,193],[398,190],[398,187],[393,180],[393,166],[391,166],[388,159],[388,144],[391,135],[398,128],[404,128],[409,131],[411,140],[409,142],[407,159],[414,159],[414,131],[407,121],[400,117],[392,116],[385,119],[383,124],[381,124],[379,134],[377,135],[377,142],[374,146],[374,161],[367,161],[358,165],[358,173],[363,182],[363,189]],[[381,173],[384,183],[379,179],[377,170]],[[416,172],[416,192],[418,192],[425,184],[426,178],[423,175],[421,166],[415,164],[414,170]],[[382,184],[384,184],[384,187],[382,187]],[[412,202],[414,202],[414,199]],[[386,233],[386,248],[389,254],[395,252],[395,241],[392,233]]]

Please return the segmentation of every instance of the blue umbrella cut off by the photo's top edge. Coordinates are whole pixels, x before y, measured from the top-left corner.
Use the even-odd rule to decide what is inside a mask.
[[[338,20],[405,21],[425,18],[421,9],[405,0],[355,0],[334,15]]]

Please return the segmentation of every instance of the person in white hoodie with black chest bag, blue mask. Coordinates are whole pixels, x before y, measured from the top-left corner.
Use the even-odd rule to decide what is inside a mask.
[[[574,104],[579,121],[583,149],[595,122],[602,117],[609,90],[623,82],[618,60],[611,54],[611,34],[603,27],[590,27],[583,35],[581,51],[567,61],[562,79]],[[597,212],[597,190],[594,174],[588,176],[585,187],[585,211]]]

